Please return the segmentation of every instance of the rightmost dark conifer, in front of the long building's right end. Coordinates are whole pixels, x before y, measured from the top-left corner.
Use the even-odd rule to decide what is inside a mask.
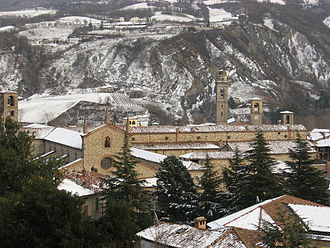
[[[290,151],[292,161],[287,161],[289,172],[284,173],[288,194],[309,201],[328,204],[328,182],[325,172],[312,166],[309,147],[306,141],[299,136],[296,147]]]

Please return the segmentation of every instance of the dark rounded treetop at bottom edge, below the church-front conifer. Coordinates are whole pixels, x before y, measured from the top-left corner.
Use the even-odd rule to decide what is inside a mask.
[[[102,230],[102,245],[116,248],[133,247],[135,233],[139,231],[134,219],[132,207],[126,201],[108,201],[105,215],[97,221]]]

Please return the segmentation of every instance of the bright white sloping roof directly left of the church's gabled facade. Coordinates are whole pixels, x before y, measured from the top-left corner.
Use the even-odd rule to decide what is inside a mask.
[[[44,139],[61,145],[82,149],[81,133],[70,129],[55,128]]]

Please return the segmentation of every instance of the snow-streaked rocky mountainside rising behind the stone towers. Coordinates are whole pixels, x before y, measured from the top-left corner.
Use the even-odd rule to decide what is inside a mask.
[[[178,24],[154,24],[143,31],[47,52],[51,56],[38,66],[37,89],[31,87],[36,82],[24,76],[20,60],[26,56],[3,50],[0,79],[5,87],[18,87],[25,96],[111,88],[126,92],[140,104],[159,104],[177,120],[211,122],[215,120],[214,80],[225,68],[230,78],[231,116],[246,119],[248,99],[259,96],[269,112],[268,122],[276,122],[278,112],[289,109],[305,125],[320,126],[329,108],[329,28],[305,10],[293,11],[288,6],[223,7],[250,13],[223,28],[189,32]],[[299,18],[308,25],[301,27]],[[33,61],[37,55],[29,56]]]

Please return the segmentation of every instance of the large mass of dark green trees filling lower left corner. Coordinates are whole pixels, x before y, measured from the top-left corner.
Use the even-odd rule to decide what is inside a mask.
[[[82,200],[57,189],[57,166],[32,158],[17,123],[0,124],[0,247],[98,247]]]

